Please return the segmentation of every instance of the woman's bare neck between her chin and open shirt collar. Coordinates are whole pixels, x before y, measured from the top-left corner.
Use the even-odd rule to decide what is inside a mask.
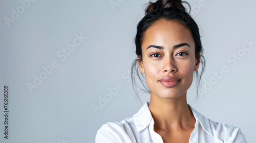
[[[148,108],[154,118],[156,130],[177,131],[195,127],[196,119],[187,105],[186,92],[172,99],[161,98],[151,93]]]

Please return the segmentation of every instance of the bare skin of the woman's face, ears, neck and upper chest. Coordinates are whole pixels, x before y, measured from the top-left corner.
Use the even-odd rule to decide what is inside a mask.
[[[189,46],[179,46],[181,43]],[[150,45],[163,49],[147,48]],[[178,20],[160,19],[146,30],[141,48],[143,56],[138,66],[151,90],[148,108],[154,118],[154,131],[163,142],[189,142],[196,119],[187,105],[186,94],[200,64],[190,30]],[[181,80],[166,87],[159,81],[166,76]]]

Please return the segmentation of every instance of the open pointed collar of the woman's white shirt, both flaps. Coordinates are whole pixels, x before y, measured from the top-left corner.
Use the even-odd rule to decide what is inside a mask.
[[[150,124],[151,119],[153,120],[150,109],[148,108],[149,104],[150,104],[149,102],[145,102],[144,105],[140,108],[140,110],[133,115],[134,124],[138,132],[145,129],[148,126],[148,124]],[[190,105],[188,106],[191,109],[193,115],[195,116],[196,121],[201,124],[204,131],[212,135],[209,119],[203,116],[194,108],[192,108]]]

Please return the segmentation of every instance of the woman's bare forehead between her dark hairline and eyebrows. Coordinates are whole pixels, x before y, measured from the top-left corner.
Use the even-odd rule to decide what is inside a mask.
[[[160,19],[146,30],[142,48],[151,44],[173,46],[183,42],[189,43],[194,49],[190,30],[178,20]]]

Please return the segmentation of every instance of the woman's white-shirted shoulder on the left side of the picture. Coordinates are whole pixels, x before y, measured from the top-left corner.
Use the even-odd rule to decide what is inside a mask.
[[[95,142],[136,142],[129,122],[132,122],[132,117],[103,124],[96,133]]]

